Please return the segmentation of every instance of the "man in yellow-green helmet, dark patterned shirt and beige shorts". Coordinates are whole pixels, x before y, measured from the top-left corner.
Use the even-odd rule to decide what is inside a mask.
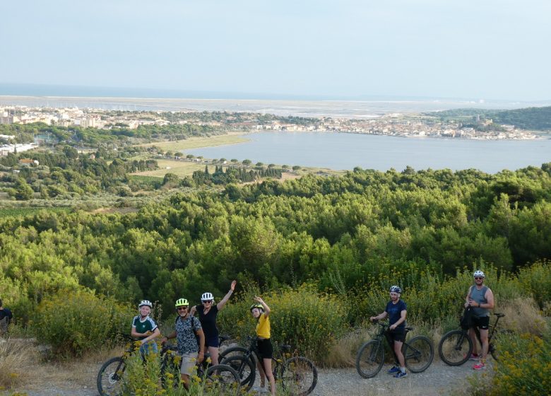
[[[189,389],[189,377],[195,373],[196,363],[201,363],[205,356],[205,334],[199,319],[189,314],[189,303],[185,298],[178,298],[174,305],[178,314],[175,330],[163,337],[161,344],[171,338],[177,339],[178,353],[182,356],[180,375],[184,387]]]

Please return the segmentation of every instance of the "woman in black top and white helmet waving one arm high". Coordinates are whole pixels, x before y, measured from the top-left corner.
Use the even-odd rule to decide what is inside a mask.
[[[211,361],[214,365],[218,364],[218,347],[220,347],[220,340],[218,339],[218,327],[216,327],[216,315],[218,311],[223,310],[227,301],[235,290],[237,281],[232,281],[230,285],[230,291],[226,293],[224,298],[214,303],[213,293],[203,293],[201,296],[201,305],[194,305],[191,307],[191,315],[199,313],[199,322],[203,326],[203,332],[205,333],[205,344],[208,348],[208,353],[211,354]]]

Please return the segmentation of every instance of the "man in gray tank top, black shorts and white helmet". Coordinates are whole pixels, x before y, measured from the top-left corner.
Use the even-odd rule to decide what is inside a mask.
[[[485,275],[482,271],[475,271],[473,274],[475,284],[469,287],[465,306],[473,307],[473,327],[469,329],[469,337],[473,341],[473,354],[470,360],[478,360],[473,368],[475,370],[484,370],[486,368],[486,356],[488,354],[488,327],[490,326],[490,311],[494,309],[494,293],[489,287],[484,285]],[[478,351],[478,342],[474,327],[480,331],[480,341],[482,342],[482,351]]]

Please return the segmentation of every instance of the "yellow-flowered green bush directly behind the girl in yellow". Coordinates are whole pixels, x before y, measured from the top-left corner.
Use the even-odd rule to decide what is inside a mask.
[[[222,332],[244,339],[254,335],[256,322],[249,308],[254,303],[249,292],[220,313]],[[348,308],[336,296],[319,294],[312,286],[283,289],[263,296],[271,308],[271,339],[274,344],[290,344],[299,354],[322,363],[336,339],[348,329]]]

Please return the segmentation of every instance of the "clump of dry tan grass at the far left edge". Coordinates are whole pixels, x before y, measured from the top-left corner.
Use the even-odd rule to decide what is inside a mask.
[[[0,339],[0,388],[13,388],[30,378],[37,350],[29,342]]]

